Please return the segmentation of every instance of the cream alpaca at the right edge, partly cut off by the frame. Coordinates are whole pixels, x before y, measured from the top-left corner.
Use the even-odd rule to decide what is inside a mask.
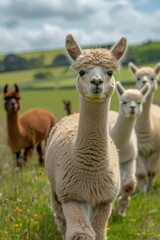
[[[156,174],[160,170],[160,107],[152,104],[157,89],[160,64],[153,69],[150,67],[137,68],[130,63],[129,68],[136,78],[138,89],[141,89],[146,82],[151,87],[151,93],[143,105],[143,112],[135,126],[139,152],[137,160],[138,187],[142,191],[147,191],[154,184]]]

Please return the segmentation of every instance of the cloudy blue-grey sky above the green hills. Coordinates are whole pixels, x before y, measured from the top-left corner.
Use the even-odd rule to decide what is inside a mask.
[[[160,41],[159,0],[0,0],[0,53]]]

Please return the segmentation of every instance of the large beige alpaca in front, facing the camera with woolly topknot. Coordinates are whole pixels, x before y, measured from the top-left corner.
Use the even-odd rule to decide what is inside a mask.
[[[66,240],[104,240],[106,223],[120,187],[119,159],[109,136],[108,111],[114,92],[112,73],[126,49],[122,38],[112,50],[82,51],[68,35],[80,95],[80,114],[64,117],[51,131],[45,168],[52,205]]]

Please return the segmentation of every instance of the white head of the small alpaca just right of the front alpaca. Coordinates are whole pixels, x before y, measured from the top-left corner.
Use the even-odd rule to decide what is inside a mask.
[[[116,82],[116,92],[120,102],[120,113],[126,118],[136,118],[142,113],[143,103],[150,93],[150,85],[146,83],[140,90],[125,90],[120,82]]]

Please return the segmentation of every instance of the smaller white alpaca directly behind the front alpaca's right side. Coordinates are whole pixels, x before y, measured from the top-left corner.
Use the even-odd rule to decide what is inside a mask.
[[[110,135],[119,149],[121,197],[119,199],[119,215],[125,215],[131,194],[136,188],[136,158],[138,154],[137,137],[134,130],[136,118],[142,112],[142,104],[150,91],[146,84],[141,91],[125,90],[116,82],[119,97],[119,113],[110,111]]]

